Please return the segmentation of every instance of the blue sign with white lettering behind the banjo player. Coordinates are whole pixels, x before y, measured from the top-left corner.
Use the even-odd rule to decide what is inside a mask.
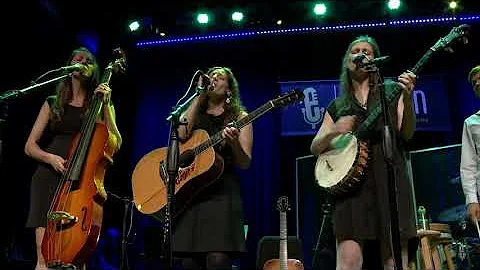
[[[302,102],[282,109],[282,136],[314,135],[328,104],[340,95],[338,80],[280,82],[281,93],[301,89]],[[447,90],[443,76],[421,76],[412,93],[417,130],[451,130]]]

